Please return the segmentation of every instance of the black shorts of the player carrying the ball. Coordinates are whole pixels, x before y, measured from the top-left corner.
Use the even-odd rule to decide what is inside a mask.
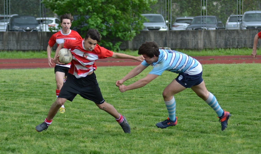
[[[77,94],[96,104],[103,104],[105,101],[102,97],[102,92],[100,91],[94,72],[91,75],[79,79],[68,73],[67,80],[63,84],[58,97],[73,101]]]

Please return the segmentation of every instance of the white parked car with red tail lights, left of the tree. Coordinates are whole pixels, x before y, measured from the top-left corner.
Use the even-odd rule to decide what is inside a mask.
[[[40,24],[42,31],[58,31],[59,29],[61,29],[58,28],[58,26],[61,23],[58,18],[43,17],[43,18],[36,18],[36,20]]]

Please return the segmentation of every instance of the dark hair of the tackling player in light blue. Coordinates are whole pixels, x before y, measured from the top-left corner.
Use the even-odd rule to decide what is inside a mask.
[[[146,55],[150,58],[154,57],[154,55],[156,57],[159,56],[159,47],[158,44],[156,42],[145,42],[143,44],[141,44],[139,50],[138,50],[138,54],[139,55]]]

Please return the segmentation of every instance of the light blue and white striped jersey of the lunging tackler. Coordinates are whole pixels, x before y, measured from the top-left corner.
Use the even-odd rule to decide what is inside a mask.
[[[158,61],[151,63],[153,69],[149,74],[161,75],[164,70],[168,70],[174,73],[187,73],[189,70],[192,70],[193,68],[200,65],[196,59],[181,52],[165,49],[159,49],[159,52],[160,54]],[[143,66],[150,65],[145,60],[141,64]],[[202,71],[202,67],[200,68],[201,70],[199,69],[193,72],[197,72],[196,74],[199,74]]]

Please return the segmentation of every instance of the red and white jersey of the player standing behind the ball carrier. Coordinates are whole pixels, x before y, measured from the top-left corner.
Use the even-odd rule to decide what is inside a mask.
[[[70,30],[68,34],[63,34],[63,31],[60,30],[51,36],[48,44],[50,47],[53,47],[54,44],[57,43],[57,47],[58,47],[61,43],[64,43],[64,41],[67,39],[81,40],[82,37],[74,30]],[[56,65],[58,65],[58,64],[56,64]],[[70,67],[71,63],[68,63],[67,65],[60,65],[60,66]]]

